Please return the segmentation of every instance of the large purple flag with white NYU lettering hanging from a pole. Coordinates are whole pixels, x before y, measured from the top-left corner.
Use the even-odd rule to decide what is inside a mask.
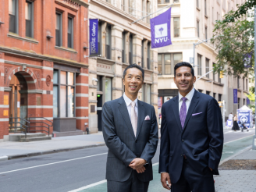
[[[161,48],[172,44],[171,8],[150,20],[151,48]]]

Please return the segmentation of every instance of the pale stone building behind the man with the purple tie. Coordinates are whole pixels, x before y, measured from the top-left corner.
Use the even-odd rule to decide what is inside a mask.
[[[172,5],[171,37],[172,44],[158,48],[158,108],[168,98],[178,95],[174,84],[174,66],[180,61],[190,62],[194,58],[194,72],[198,80],[194,87],[197,91],[209,94],[217,101],[226,102],[226,117],[230,112],[246,104],[248,80],[243,76],[239,79],[233,76],[219,78],[219,74],[209,73],[215,63],[217,52],[209,40],[213,36],[215,20],[222,17],[231,9],[236,10],[236,4],[243,0],[158,0],[158,9]],[[168,8],[169,9],[169,8]],[[164,12],[165,10],[163,10]],[[158,14],[160,14],[159,12]],[[207,40],[195,47],[194,43]],[[191,62],[193,65],[193,63]],[[238,104],[233,104],[233,89],[237,88]]]

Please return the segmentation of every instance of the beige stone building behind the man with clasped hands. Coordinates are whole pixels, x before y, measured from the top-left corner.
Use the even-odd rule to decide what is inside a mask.
[[[123,70],[131,63],[145,70],[138,99],[157,109],[157,50],[151,49],[149,17],[157,2],[151,0],[91,0],[89,19],[98,19],[98,55],[89,57],[89,127],[101,130],[101,109],[106,101],[123,95]],[[88,55],[89,56],[89,55]]]

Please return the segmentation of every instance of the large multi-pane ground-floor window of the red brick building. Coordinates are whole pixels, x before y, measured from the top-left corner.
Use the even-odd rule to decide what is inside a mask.
[[[54,69],[53,117],[75,116],[75,73]]]

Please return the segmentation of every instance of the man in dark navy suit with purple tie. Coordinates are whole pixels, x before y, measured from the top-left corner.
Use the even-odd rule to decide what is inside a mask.
[[[187,62],[174,67],[179,95],[162,105],[159,173],[172,192],[214,192],[213,175],[223,148],[218,102],[196,91],[194,69]]]

